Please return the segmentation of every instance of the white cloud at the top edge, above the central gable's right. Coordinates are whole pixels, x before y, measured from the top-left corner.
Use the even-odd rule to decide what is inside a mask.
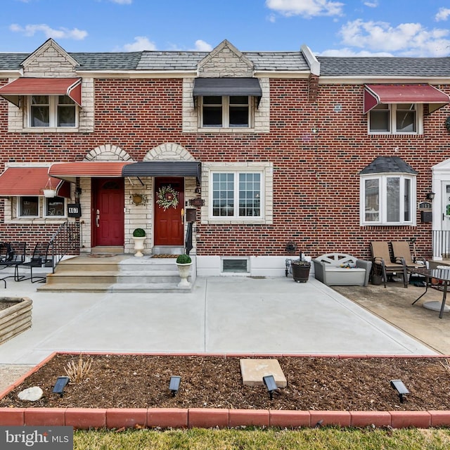
[[[342,15],[344,4],[330,0],[266,0],[266,6],[286,17],[301,15],[311,18],[316,15]]]

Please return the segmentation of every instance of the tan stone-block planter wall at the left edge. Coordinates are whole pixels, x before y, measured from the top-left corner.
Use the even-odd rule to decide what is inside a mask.
[[[28,297],[0,297],[0,344],[31,328],[32,303]]]

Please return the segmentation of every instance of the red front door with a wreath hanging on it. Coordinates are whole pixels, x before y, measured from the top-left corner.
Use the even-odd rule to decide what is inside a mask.
[[[155,245],[184,245],[184,179],[155,179]]]

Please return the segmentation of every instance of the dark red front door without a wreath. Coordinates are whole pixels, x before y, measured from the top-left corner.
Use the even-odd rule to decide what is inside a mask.
[[[124,179],[92,179],[93,246],[124,245]]]

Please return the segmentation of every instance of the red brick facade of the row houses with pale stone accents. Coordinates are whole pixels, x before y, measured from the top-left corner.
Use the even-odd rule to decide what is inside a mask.
[[[38,76],[44,66],[42,74],[46,77],[60,76],[56,68],[63,68],[64,76],[76,75],[72,60],[60,56],[55,46],[44,50],[27,60],[27,76]],[[285,73],[258,72],[263,96],[255,109],[254,128],[199,130],[193,80],[196,76],[224,75],[255,76],[248,58],[226,42],[200,61],[198,74],[83,76],[83,108],[76,132],[24,131],[19,108],[0,98],[0,165],[82,160],[200,161],[205,206],[197,211],[193,252],[205,257],[204,267],[212,260],[207,258],[278,257],[275,265],[283,274],[288,241],[311,257],[339,251],[367,259],[370,240],[416,236],[418,253],[431,257],[432,224],[422,223],[419,212],[416,226],[360,226],[359,172],[380,155],[399,156],[418,172],[417,202],[425,200],[432,186],[431,168],[450,157],[444,127],[449,106],[424,116],[423,134],[371,135],[367,115],[363,114],[364,82],[322,83],[320,77],[311,74],[289,77]],[[8,81],[11,77],[3,77],[0,85]],[[437,88],[450,94],[450,83]],[[214,167],[263,170],[264,220],[211,219],[209,171]],[[90,180],[82,179],[80,186],[84,246],[89,249]],[[197,196],[195,188],[195,178],[186,178],[186,200]],[[146,205],[131,205],[129,197],[136,189],[148,195]],[[2,238],[26,236],[30,245],[48,239],[58,222],[11,220],[14,201],[0,202]],[[124,248],[131,251],[132,229],[151,228],[152,179],[139,187],[126,180],[125,209]],[[152,245],[150,238],[147,252]]]

